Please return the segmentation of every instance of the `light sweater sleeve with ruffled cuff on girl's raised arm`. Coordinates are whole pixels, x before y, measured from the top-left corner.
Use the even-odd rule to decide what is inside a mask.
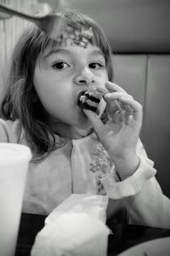
[[[117,183],[104,177],[101,182],[110,198],[123,201],[129,224],[170,228],[170,200],[162,194],[154,177],[153,162],[148,159],[140,141],[137,154],[140,165],[131,177]]]

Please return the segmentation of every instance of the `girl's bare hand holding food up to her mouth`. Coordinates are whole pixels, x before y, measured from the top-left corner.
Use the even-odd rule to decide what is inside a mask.
[[[104,96],[109,122],[103,124],[92,111],[84,110],[84,113],[94,126],[99,141],[110,154],[116,171],[124,179],[139,166],[136,145],[142,125],[142,106],[117,84],[106,82],[105,87],[110,91]]]

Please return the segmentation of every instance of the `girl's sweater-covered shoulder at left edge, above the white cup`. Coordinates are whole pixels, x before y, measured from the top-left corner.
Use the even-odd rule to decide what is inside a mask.
[[[0,119],[0,143],[20,143],[23,127],[20,120]]]

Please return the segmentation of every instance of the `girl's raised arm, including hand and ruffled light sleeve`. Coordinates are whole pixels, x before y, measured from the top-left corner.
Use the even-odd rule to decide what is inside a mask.
[[[162,194],[153,162],[139,143],[142,106],[117,84],[106,82],[105,87],[110,91],[105,95],[109,122],[103,124],[97,114],[84,111],[121,178],[118,183],[111,177],[101,182],[107,194],[127,208],[129,223],[170,228],[170,201]]]

